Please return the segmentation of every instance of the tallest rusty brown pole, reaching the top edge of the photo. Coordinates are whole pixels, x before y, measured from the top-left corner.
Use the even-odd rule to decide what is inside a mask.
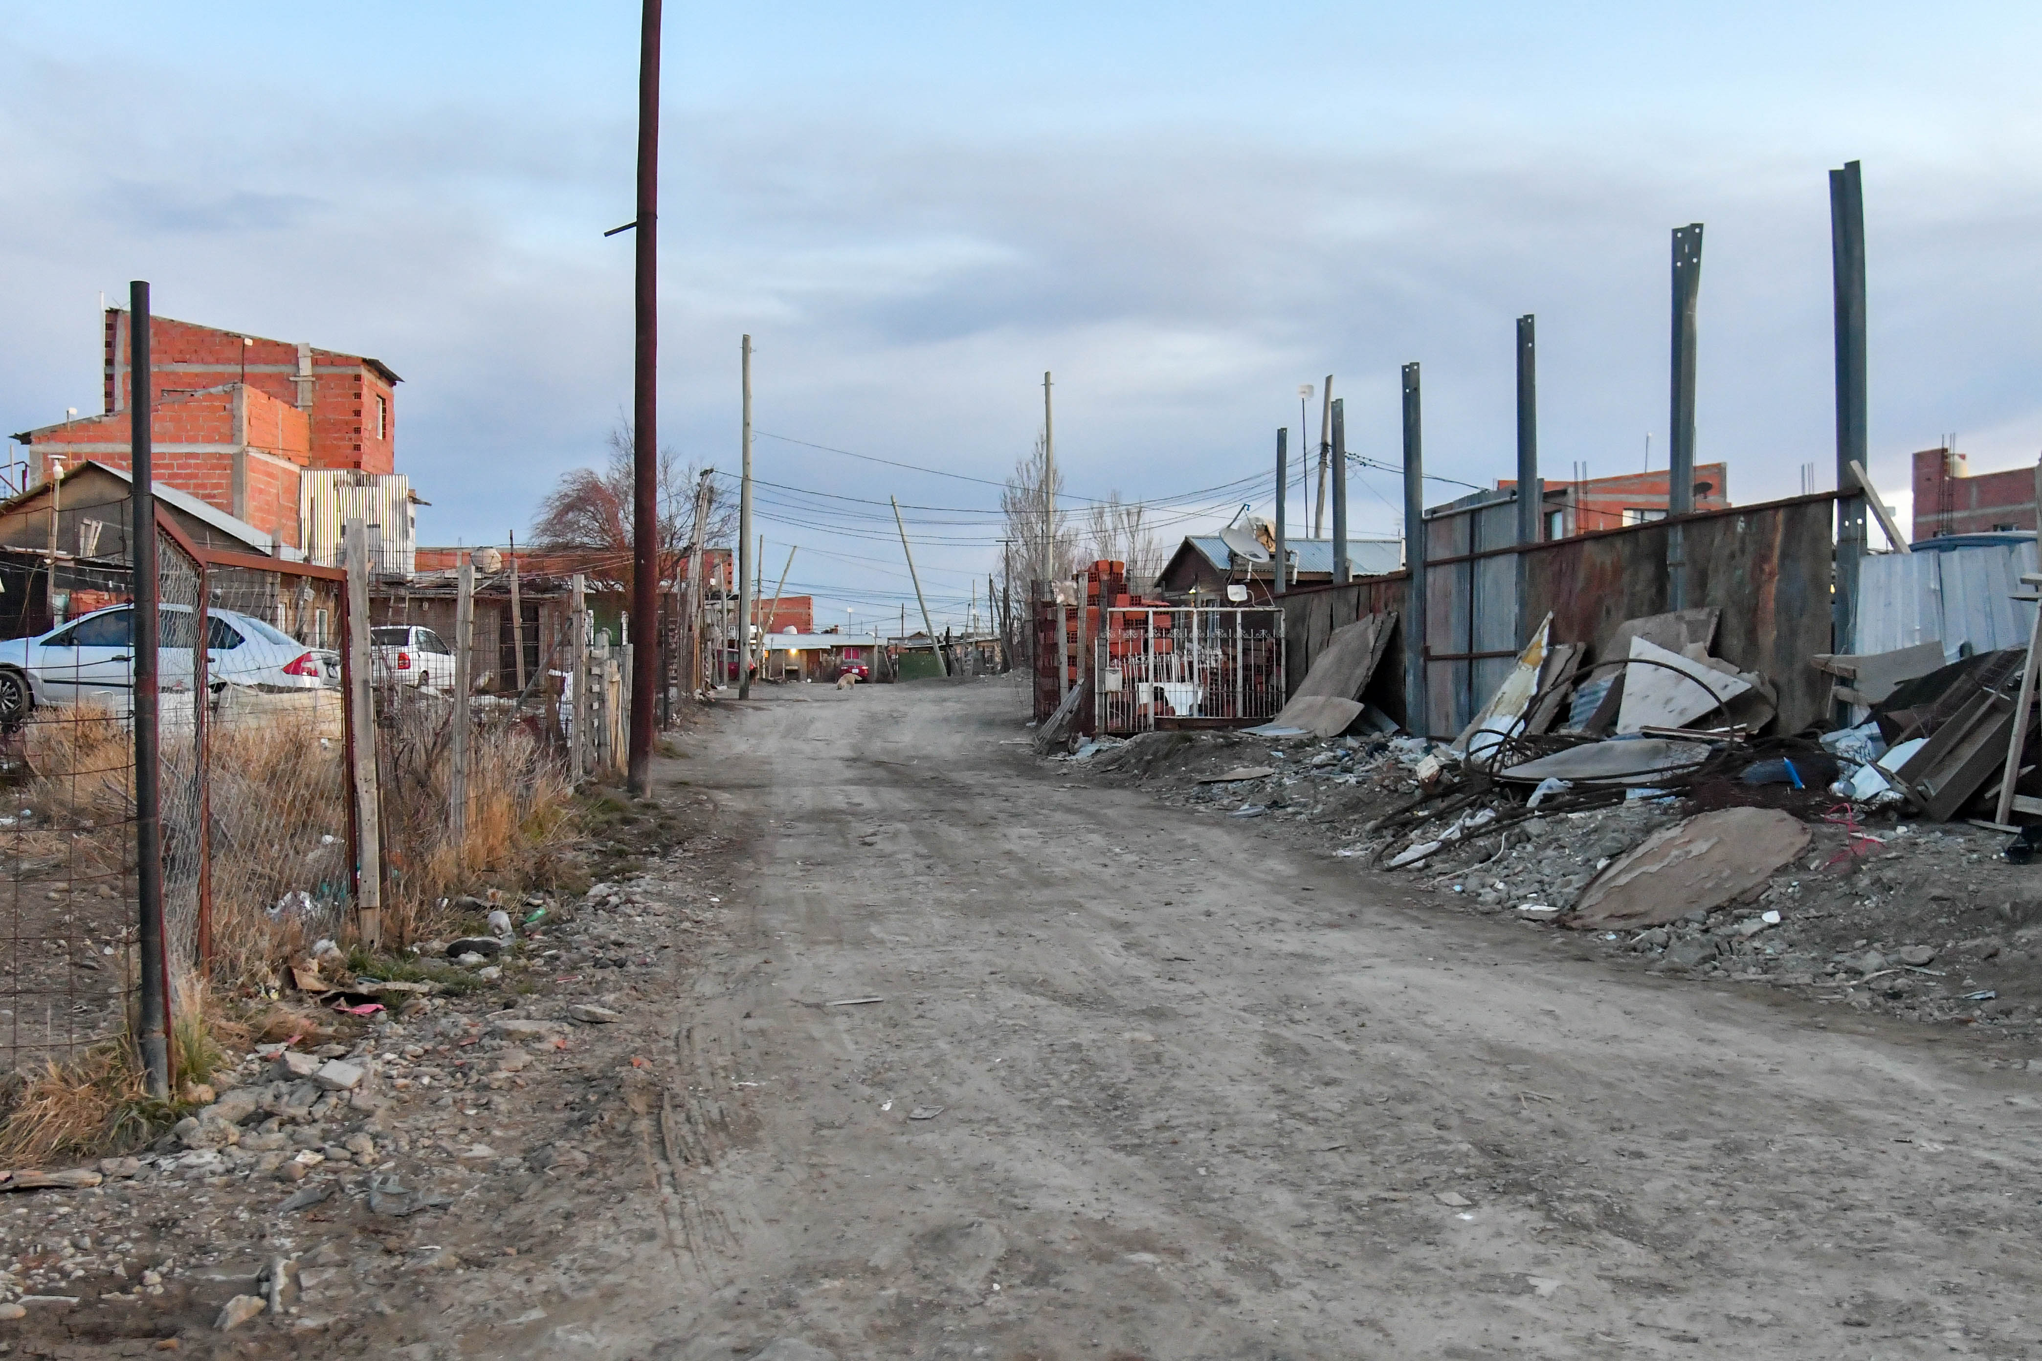
[[[637,347],[631,357],[631,618],[647,643],[660,637],[660,0],[639,12],[637,163]],[[651,790],[653,696],[660,649],[631,659],[631,747],[627,777],[639,798]]]

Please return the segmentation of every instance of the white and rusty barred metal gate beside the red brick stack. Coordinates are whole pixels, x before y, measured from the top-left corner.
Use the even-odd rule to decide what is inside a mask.
[[[1097,639],[1097,730],[1242,726],[1284,704],[1282,610],[1111,608]]]

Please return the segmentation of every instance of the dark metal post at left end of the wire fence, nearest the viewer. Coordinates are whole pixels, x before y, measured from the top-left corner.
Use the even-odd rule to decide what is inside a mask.
[[[141,1065],[149,1096],[169,1096],[169,963],[163,955],[163,808],[157,747],[157,561],[155,449],[149,418],[155,377],[149,369],[149,284],[129,284],[129,469],[135,559],[135,888],[141,945]],[[57,553],[51,545],[51,582]]]

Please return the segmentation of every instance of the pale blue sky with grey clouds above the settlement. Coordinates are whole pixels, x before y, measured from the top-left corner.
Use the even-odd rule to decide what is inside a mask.
[[[1068,492],[1207,508],[1172,535],[1227,514],[1186,494],[1268,502],[1327,371],[1358,453],[1399,457],[1417,359],[1427,469],[1509,475],[1521,312],[1548,475],[1642,467],[1648,435],[1664,465],[1668,231],[1699,220],[1699,457],[1744,502],[1803,463],[1828,488],[1824,171],[1862,159],[1873,473],[1905,502],[1946,433],[1975,467],[2042,451],[2038,29],[1962,0],[670,0],[662,433],[735,467],[749,331],[758,475],[862,498],[764,492],[768,571],[798,545],[819,622],[894,616],[884,498],[931,506],[941,626],[1043,369]],[[615,0],[10,6],[0,424],[96,410],[98,296],[147,278],[169,316],[390,363],[423,537],[502,543],[629,404],[631,245],[600,233],[631,218],[635,69]],[[1395,477],[1352,496],[1395,533]]]

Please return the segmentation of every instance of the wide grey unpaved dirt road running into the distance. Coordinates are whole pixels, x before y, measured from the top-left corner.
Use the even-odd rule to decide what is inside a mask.
[[[543,1353],[2042,1355],[2005,1047],[1405,904],[1066,782],[1021,704],[776,692],[676,763],[753,826],[680,1251]]]

